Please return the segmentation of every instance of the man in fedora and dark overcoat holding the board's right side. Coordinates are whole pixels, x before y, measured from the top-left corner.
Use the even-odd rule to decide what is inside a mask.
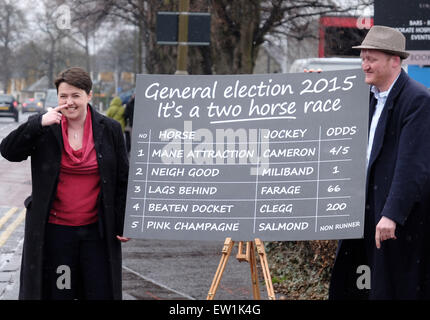
[[[430,298],[430,95],[405,42],[374,26],[353,47],[371,91],[364,239],[339,242],[330,299]]]

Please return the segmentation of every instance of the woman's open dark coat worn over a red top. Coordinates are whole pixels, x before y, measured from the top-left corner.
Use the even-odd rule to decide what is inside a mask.
[[[121,243],[116,236],[123,232],[128,159],[120,124],[90,110],[101,183],[100,233],[108,248],[113,297],[121,299]],[[31,156],[32,197],[26,201],[19,298],[41,299],[45,227],[57,190],[63,150],[61,127],[42,127],[41,115],[30,117],[3,139],[0,150],[9,161]]]

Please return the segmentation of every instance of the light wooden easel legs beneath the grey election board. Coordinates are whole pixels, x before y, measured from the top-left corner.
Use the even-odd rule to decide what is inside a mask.
[[[255,243],[255,244],[254,244]],[[215,298],[215,293],[218,289],[219,283],[221,281],[222,274],[224,272],[225,266],[227,265],[228,258],[230,257],[231,251],[234,246],[234,241],[231,238],[226,238],[224,246],[222,248],[222,257],[219,262],[218,269],[215,273],[214,279],[212,280],[212,285],[209,289],[208,296],[206,300],[213,300]],[[257,248],[257,253],[260,256],[261,269],[263,270],[264,281],[266,282],[267,295],[270,300],[275,300],[275,293],[273,291],[272,278],[270,277],[269,265],[267,263],[266,251],[264,249],[263,242],[256,238],[254,241],[246,242],[246,251],[243,253],[243,241],[238,244],[238,252],[236,258],[239,262],[247,261],[251,267],[251,280],[252,280],[252,294],[255,300],[260,300],[260,289],[258,287],[258,270],[257,270],[257,259],[255,257],[255,248]]]

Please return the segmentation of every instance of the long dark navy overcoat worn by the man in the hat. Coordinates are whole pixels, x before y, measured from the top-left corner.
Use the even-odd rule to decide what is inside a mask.
[[[371,95],[371,112],[376,103]],[[378,250],[375,228],[382,216],[396,222],[397,239]],[[370,267],[370,290],[357,287],[357,280],[365,283],[360,265]],[[339,242],[330,298],[430,299],[430,95],[403,70],[375,132],[364,240]]]

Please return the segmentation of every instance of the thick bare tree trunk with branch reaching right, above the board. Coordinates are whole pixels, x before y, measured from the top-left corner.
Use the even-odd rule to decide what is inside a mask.
[[[308,27],[316,17],[347,13],[368,2],[211,0],[213,68],[217,73],[252,73],[258,49],[268,35],[313,37]]]

